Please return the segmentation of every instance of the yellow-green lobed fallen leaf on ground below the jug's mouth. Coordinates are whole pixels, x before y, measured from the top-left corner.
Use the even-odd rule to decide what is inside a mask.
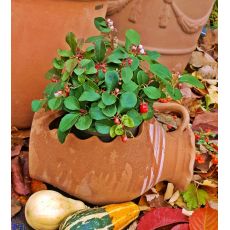
[[[208,193],[203,189],[198,189],[194,184],[190,184],[187,190],[182,192],[182,196],[189,210],[205,205],[208,199]]]

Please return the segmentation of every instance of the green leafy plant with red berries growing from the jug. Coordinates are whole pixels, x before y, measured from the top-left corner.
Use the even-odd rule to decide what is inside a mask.
[[[173,77],[157,62],[159,53],[144,49],[135,30],[126,31],[121,45],[110,19],[98,17],[94,23],[99,36],[83,41],[72,32],[67,34],[69,49],[57,50],[53,67],[46,73],[50,83],[44,98],[32,102],[34,112],[41,108],[65,112],[58,127],[61,143],[73,126],[112,138],[121,136],[125,142],[129,128],[153,117],[156,100],[181,99],[179,83],[203,87],[191,75]]]

